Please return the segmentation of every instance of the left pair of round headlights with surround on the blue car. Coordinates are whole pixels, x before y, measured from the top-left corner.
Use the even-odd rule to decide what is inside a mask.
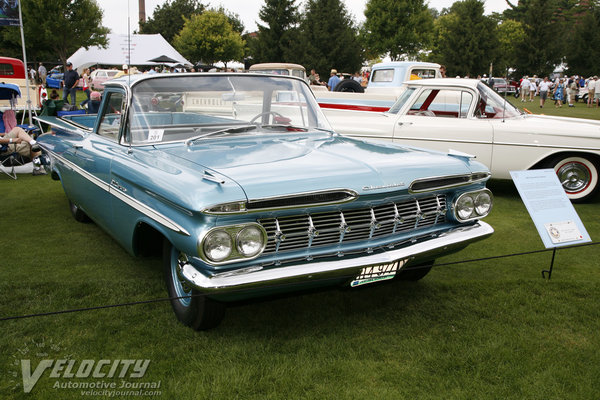
[[[215,244],[224,246],[222,256],[215,257]],[[206,232],[198,241],[200,258],[211,265],[253,260],[267,246],[267,231],[257,223],[219,226]],[[218,252],[218,251],[217,251]]]

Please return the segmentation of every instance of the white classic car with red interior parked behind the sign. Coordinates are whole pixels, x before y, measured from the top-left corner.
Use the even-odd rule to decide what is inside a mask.
[[[479,80],[405,82],[387,112],[323,111],[336,132],[472,154],[493,178],[553,168],[572,201],[598,189],[600,121],[525,114]]]

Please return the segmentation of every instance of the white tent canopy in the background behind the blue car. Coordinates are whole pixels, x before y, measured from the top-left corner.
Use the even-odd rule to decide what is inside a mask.
[[[81,70],[94,64],[102,65],[159,65],[162,63],[150,60],[167,56],[176,60],[175,64],[191,66],[177,50],[173,48],[162,35],[120,35],[109,34],[108,46],[103,49],[98,46],[89,49],[80,48],[67,59],[73,68]],[[129,41],[131,40],[131,45]],[[130,57],[131,56],[131,57]]]

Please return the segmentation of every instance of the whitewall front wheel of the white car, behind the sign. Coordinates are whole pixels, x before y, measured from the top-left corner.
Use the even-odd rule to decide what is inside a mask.
[[[585,156],[564,155],[545,166],[554,169],[567,197],[574,203],[589,200],[598,190],[598,166]]]

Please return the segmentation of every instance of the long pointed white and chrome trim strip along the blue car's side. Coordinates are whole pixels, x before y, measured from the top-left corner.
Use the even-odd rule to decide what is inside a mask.
[[[46,150],[46,151],[48,151],[48,150]],[[182,235],[190,236],[190,233],[187,230],[185,230],[185,228],[183,228],[181,225],[177,224],[173,220],[167,218],[163,214],[159,213],[158,211],[148,207],[147,205],[143,204],[139,200],[134,199],[133,197],[129,196],[128,194],[123,193],[122,191],[118,190],[116,187],[111,187],[111,185],[109,183],[104,182],[102,179],[90,174],[89,172],[87,172],[86,170],[84,170],[83,168],[78,166],[77,164],[67,160],[63,156],[59,156],[58,154],[56,154],[54,152],[50,152],[50,151],[48,151],[48,152],[51,153],[53,157],[56,157],[60,162],[65,164],[68,168],[71,168],[74,172],[78,173],[79,175],[81,175],[82,177],[87,179],[88,181],[92,182],[94,185],[98,186],[100,189],[105,190],[106,192],[112,194],[119,200],[123,201],[125,204],[136,209],[137,211],[141,212],[142,214],[149,217],[150,219],[158,222],[159,224],[163,225],[164,227],[166,227],[174,232],[181,233]]]

